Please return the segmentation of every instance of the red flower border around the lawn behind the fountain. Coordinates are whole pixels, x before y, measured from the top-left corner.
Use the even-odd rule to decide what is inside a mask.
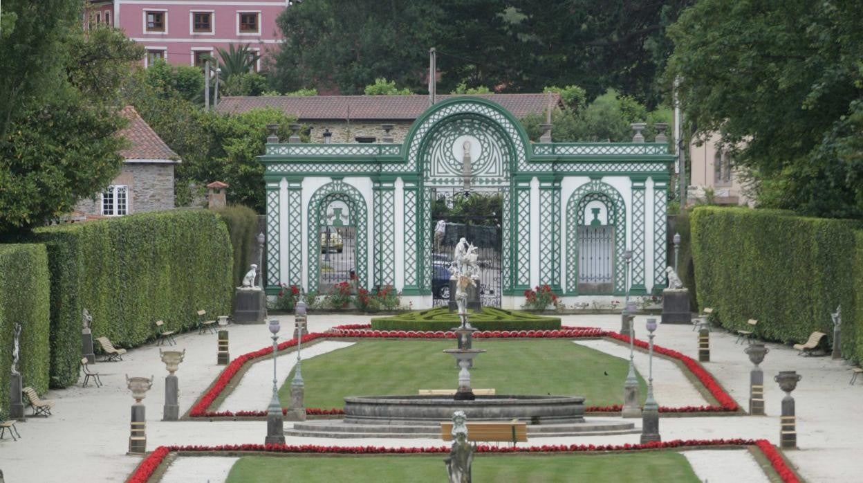
[[[303,344],[307,344],[312,342],[312,340],[318,339],[354,339],[354,338],[383,338],[383,339],[455,339],[456,333],[454,332],[415,332],[415,331],[404,331],[404,330],[370,330],[369,324],[354,324],[354,325],[346,325],[340,327],[333,327],[330,332],[325,333],[312,333],[304,335],[302,338]],[[622,342],[629,342],[629,337],[627,335],[618,334],[616,332],[603,331],[596,327],[562,327],[560,330],[529,330],[529,331],[479,331],[474,334],[474,337],[477,339],[512,339],[512,338],[537,338],[537,339],[599,339],[602,337],[608,337],[614,340],[620,340]],[[293,346],[297,345],[297,340],[286,340],[279,344],[278,350],[284,351]],[[645,340],[635,339],[633,341],[633,345],[637,346],[641,349],[647,348],[647,342]],[[700,364],[698,364],[695,359],[690,358],[689,356],[683,355],[683,353],[679,353],[677,351],[673,351],[671,349],[667,349],[662,346],[653,346],[653,351],[664,355],[665,357],[671,359],[677,359],[680,361],[684,367],[686,367],[694,378],[696,378],[701,384],[703,384],[704,388],[709,391],[710,396],[714,397],[715,400],[719,403],[719,405],[705,405],[705,406],[684,406],[684,407],[667,407],[660,406],[659,412],[661,413],[733,413],[740,410],[738,404],[734,401],[734,398],[728,395],[721,384],[719,384],[709,372],[707,372]],[[191,418],[213,418],[213,417],[264,417],[267,416],[266,410],[243,410],[243,411],[213,411],[210,410],[211,406],[217,401],[219,397],[224,396],[222,394],[228,387],[233,387],[234,384],[237,384],[236,381],[233,381],[233,378],[236,377],[238,372],[242,372],[243,366],[248,364],[249,362],[255,361],[255,359],[260,359],[262,357],[267,357],[273,353],[273,347],[267,346],[257,351],[251,353],[245,353],[236,359],[233,359],[230,364],[224,368],[224,370],[219,374],[218,378],[211,384],[210,388],[208,388],[205,393],[198,398],[198,401],[195,404],[192,404],[192,409],[189,410],[188,416]],[[443,354],[441,354],[443,355]],[[477,359],[477,364],[482,364],[482,358]],[[478,387],[478,386],[477,386]],[[437,388],[424,388],[424,389],[437,389]],[[589,406],[585,408],[587,412],[619,412],[621,410],[620,405],[614,404],[611,406]],[[287,409],[283,408],[283,412],[287,411]],[[316,415],[339,415],[343,414],[343,410],[341,408],[306,408],[306,414],[311,416]]]

